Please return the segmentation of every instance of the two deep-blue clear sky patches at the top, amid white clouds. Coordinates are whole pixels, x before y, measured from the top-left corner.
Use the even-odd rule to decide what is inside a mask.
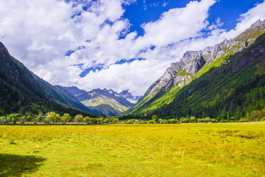
[[[131,32],[136,30],[138,35],[143,35],[141,24],[156,21],[163,12],[185,7],[189,2],[190,0],[138,0],[131,5],[123,5],[125,13],[122,17],[130,20]],[[208,20],[213,23],[220,18],[223,22],[222,29],[231,30],[236,27],[240,14],[262,2],[263,0],[219,0],[211,6]]]

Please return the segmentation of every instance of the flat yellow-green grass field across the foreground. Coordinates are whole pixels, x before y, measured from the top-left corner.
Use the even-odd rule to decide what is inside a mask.
[[[0,177],[265,177],[265,122],[0,125]]]

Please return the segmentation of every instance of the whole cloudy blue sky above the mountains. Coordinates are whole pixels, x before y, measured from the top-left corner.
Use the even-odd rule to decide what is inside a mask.
[[[264,0],[0,0],[0,41],[52,85],[143,95],[185,51],[265,19]]]

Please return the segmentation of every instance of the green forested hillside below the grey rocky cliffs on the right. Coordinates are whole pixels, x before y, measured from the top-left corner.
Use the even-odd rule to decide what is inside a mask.
[[[222,121],[228,117],[234,120],[246,118],[255,110],[260,111],[259,115],[264,114],[265,34],[243,51],[233,55],[230,49],[225,54],[206,63],[192,75],[189,84],[178,87],[176,83],[155,97],[147,95],[121,118],[158,115],[159,118],[180,119],[188,115]],[[187,75],[183,70],[178,74]]]

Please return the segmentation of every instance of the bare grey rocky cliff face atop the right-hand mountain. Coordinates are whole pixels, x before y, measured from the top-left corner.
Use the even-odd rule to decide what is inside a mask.
[[[180,61],[172,63],[164,74],[147,89],[141,100],[151,99],[160,91],[165,92],[172,86],[182,87],[188,84],[192,80],[192,75],[205,64],[210,65],[216,59],[242,51],[263,32],[265,32],[265,21],[258,20],[233,39],[224,39],[221,43],[206,47],[202,51],[185,52]]]

